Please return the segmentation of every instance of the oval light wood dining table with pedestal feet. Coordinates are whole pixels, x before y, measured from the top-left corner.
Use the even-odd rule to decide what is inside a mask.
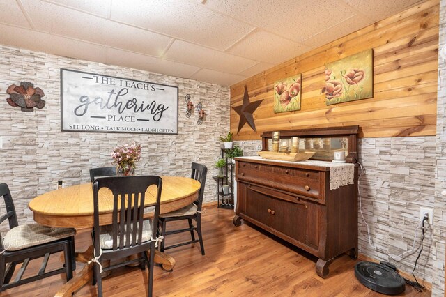
[[[169,213],[197,200],[201,187],[199,181],[180,176],[161,176],[162,192],[160,213]],[[146,207],[154,206],[156,201],[155,185],[146,192]],[[99,191],[100,225],[112,224],[112,191]],[[93,186],[92,183],[72,185],[47,192],[32,199],[29,208],[33,211],[36,222],[49,227],[72,227],[76,229],[93,227]],[[153,216],[144,213],[145,218]],[[87,262],[93,258],[93,246],[85,252],[77,253],[77,261]],[[155,250],[155,263],[162,264],[165,270],[174,268],[175,260],[163,252]],[[63,285],[56,296],[71,296],[72,292],[84,286],[93,277],[93,264],[86,265],[69,282]]]

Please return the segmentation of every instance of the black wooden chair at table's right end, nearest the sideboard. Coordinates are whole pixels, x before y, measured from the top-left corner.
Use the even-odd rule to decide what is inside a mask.
[[[163,213],[162,215],[160,215],[159,233],[161,234],[161,236],[164,237],[164,241],[162,241],[161,243],[161,248],[160,248],[161,252],[164,252],[164,250],[167,250],[169,248],[177,248],[182,245],[188,245],[191,243],[199,242],[201,248],[201,254],[204,255],[203,236],[201,235],[201,205],[203,204],[203,194],[204,194],[204,185],[206,183],[206,174],[208,174],[208,168],[206,168],[206,166],[198,163],[192,163],[191,178],[194,178],[195,180],[201,183],[201,188],[199,190],[197,201],[195,201],[193,204],[180,208],[177,211],[171,211],[170,213]],[[197,222],[196,226],[192,224],[192,219]],[[166,231],[167,222],[177,221],[177,220],[187,220],[189,222],[189,228]],[[177,243],[169,246],[164,245],[165,238],[167,235],[177,234],[187,231],[190,231],[190,236],[192,238],[191,241],[187,241],[184,243]],[[195,239],[194,231],[197,231],[198,240]]]

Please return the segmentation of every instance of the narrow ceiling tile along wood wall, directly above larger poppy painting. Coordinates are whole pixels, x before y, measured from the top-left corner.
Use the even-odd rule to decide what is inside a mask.
[[[337,38],[341,38],[352,33],[352,28],[357,31],[372,23],[372,20],[362,17],[362,15],[355,15],[348,20],[335,24],[325,31],[317,33],[307,40],[302,41],[302,43],[314,48],[320,47],[321,45],[331,43],[333,40],[337,40]]]

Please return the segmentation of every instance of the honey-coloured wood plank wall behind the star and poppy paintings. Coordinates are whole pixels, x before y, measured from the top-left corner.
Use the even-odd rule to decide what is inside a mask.
[[[439,1],[429,0],[231,86],[231,107],[263,100],[254,112],[257,133],[231,108],[236,140],[263,131],[360,125],[361,137],[436,135]],[[374,97],[325,105],[325,63],[374,49]],[[300,111],[273,112],[274,83],[302,73]]]

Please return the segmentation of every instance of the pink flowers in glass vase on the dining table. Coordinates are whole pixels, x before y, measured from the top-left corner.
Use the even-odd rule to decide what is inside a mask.
[[[116,146],[112,152],[113,162],[116,165],[116,174],[120,176],[134,175],[136,162],[141,158],[141,144],[132,143]]]

